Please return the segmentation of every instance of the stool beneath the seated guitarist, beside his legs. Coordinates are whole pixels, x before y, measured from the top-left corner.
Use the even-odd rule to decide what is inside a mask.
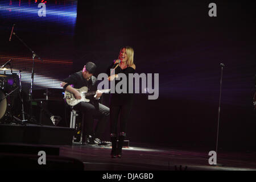
[[[82,119],[77,119],[82,116]],[[70,128],[75,129],[76,133],[73,135],[73,144],[82,144],[82,133],[84,129],[84,113],[81,113],[79,110],[73,109],[71,107],[71,115],[70,115]]]

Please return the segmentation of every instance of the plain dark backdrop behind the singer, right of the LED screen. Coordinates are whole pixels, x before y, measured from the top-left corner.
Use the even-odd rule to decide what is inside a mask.
[[[74,71],[91,60],[105,72],[131,46],[137,73],[159,73],[158,100],[135,94],[130,142],[215,150],[224,63],[220,150],[255,149],[255,6],[214,1],[209,17],[211,2],[79,1]]]

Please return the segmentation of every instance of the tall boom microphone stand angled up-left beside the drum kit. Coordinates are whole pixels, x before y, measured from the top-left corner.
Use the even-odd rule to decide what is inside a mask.
[[[41,59],[40,59],[40,57],[35,53],[35,51],[33,51],[30,47],[28,47],[27,44],[24,43],[23,40],[20,39],[18,35],[16,35],[15,32],[13,32],[13,35],[15,35],[16,38],[18,38],[19,41],[22,42],[23,45],[24,45],[25,47],[27,47],[27,48],[30,50],[30,52],[32,53],[31,86],[30,86],[30,92],[29,92],[29,96],[30,96],[30,115],[29,115],[29,118],[28,118],[28,121],[31,121],[31,122],[32,122],[32,120],[36,121],[34,118],[32,118],[32,88],[33,88],[33,85],[34,85],[34,64],[35,64],[35,57],[38,57],[39,60],[41,60]],[[36,122],[36,123],[37,123],[37,122]]]

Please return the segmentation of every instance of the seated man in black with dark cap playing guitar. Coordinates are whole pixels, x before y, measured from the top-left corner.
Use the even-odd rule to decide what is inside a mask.
[[[61,82],[61,86],[68,92],[73,93],[76,99],[81,99],[81,95],[76,89],[86,86],[88,92],[97,90],[97,78],[93,76],[95,71],[96,65],[88,62],[82,71],[73,73],[68,78],[65,78]],[[90,102],[80,102],[74,106],[74,109],[80,110],[85,114],[84,135],[82,136],[82,142],[85,142],[85,144],[104,144],[101,142],[101,135],[104,133],[106,123],[108,122],[109,107],[98,102],[101,96],[102,92],[97,90],[94,96],[86,97]],[[93,118],[99,119],[95,131],[93,129]]]

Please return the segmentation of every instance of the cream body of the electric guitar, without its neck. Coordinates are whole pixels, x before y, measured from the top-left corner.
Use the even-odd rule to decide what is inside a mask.
[[[83,86],[80,89],[76,89],[76,90],[79,91],[79,93],[82,97],[81,99],[76,99],[76,97],[73,93],[70,93],[67,90],[65,90],[64,98],[68,105],[75,106],[75,105],[79,104],[80,102],[90,102],[89,99],[85,98],[85,93],[88,92],[88,88],[86,86]]]

